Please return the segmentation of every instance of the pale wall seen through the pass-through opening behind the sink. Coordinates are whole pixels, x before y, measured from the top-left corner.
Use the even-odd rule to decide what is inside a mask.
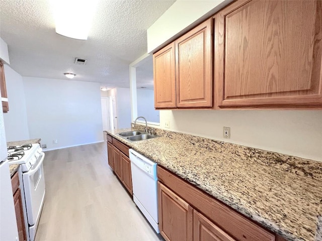
[[[159,110],[154,109],[154,91],[151,89],[136,89],[137,116],[144,116],[146,121],[159,123]]]

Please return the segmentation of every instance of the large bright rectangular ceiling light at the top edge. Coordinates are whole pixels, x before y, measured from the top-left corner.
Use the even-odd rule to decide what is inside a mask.
[[[56,33],[86,40],[98,0],[52,0]]]

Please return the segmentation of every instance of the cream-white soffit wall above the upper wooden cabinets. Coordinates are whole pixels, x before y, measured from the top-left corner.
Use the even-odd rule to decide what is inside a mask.
[[[147,52],[173,41],[190,27],[209,18],[231,1],[177,0],[154,24],[147,29]]]

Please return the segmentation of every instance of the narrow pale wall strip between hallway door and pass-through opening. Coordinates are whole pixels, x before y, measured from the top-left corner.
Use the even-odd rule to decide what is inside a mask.
[[[131,96],[129,88],[116,88],[118,128],[131,127]]]

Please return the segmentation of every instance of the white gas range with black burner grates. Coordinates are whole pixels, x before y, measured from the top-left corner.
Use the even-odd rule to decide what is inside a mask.
[[[45,153],[42,152],[38,143],[10,146],[7,149],[9,165],[20,164],[21,167],[19,168],[19,181],[27,240],[34,241],[45,198],[43,168]]]

